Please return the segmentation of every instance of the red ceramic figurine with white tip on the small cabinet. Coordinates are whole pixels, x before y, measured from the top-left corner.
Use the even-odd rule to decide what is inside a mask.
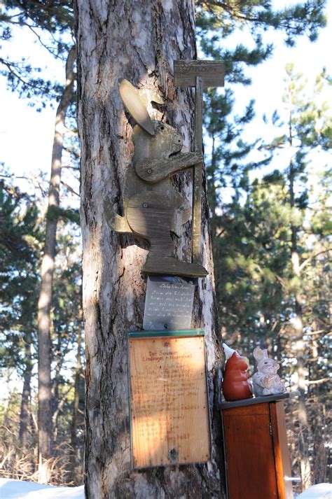
[[[223,344],[226,353],[226,367],[223,373],[223,396],[228,402],[252,397],[251,384],[247,373],[249,362],[246,357],[240,356],[237,351]],[[233,353],[232,353],[233,352]]]

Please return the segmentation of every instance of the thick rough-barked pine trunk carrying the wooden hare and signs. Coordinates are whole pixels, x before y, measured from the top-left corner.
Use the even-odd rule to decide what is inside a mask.
[[[127,400],[127,332],[142,328],[146,282],[140,268],[146,248],[106,224],[103,201],[121,213],[125,170],[133,153],[132,126],[118,94],[119,78],[157,90],[162,118],[193,150],[193,92],[176,89],[174,59],[195,58],[193,3],[189,0],[76,0],[78,127],[81,139],[83,309],[86,340],[85,494],[101,498],[223,498],[221,458],[222,357],[216,338],[213,262],[206,192],[202,206],[202,265],[193,316],[205,328],[212,461],[206,465],[130,469]],[[191,174],[178,174],[191,199]],[[190,260],[191,227],[177,241],[179,258]]]

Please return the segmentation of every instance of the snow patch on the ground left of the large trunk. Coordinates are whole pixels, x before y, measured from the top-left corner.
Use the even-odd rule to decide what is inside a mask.
[[[84,499],[84,487],[56,487],[0,478],[1,499]]]

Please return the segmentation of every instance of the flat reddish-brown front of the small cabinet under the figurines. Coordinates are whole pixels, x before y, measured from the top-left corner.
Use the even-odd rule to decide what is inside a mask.
[[[279,499],[268,403],[223,411],[228,499]]]

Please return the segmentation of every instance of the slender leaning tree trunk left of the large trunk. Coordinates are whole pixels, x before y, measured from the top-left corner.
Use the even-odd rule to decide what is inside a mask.
[[[52,383],[50,377],[51,339],[50,308],[57,233],[57,210],[60,207],[61,159],[65,133],[64,120],[71,103],[74,86],[76,49],[71,48],[66,63],[66,85],[55,116],[45,245],[41,262],[41,289],[38,301],[38,446],[39,482],[48,481],[48,460],[52,456]]]

